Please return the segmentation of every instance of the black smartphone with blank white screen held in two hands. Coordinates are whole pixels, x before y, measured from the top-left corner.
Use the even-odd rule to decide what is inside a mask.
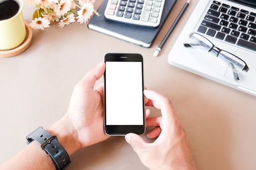
[[[107,53],[104,73],[104,131],[109,136],[145,132],[143,57]]]

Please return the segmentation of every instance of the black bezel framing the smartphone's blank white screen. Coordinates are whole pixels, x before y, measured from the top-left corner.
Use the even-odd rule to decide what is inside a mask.
[[[129,133],[142,135],[145,132],[145,103],[144,103],[144,73],[143,57],[138,53],[107,53],[104,62],[141,62],[142,71],[142,101],[143,101],[143,125],[106,125],[106,69],[104,72],[104,132],[109,136],[124,136]]]

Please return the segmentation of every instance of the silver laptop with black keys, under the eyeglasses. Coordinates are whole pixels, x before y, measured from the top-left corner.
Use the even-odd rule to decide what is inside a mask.
[[[218,62],[217,55],[185,47],[191,33],[238,56],[248,65],[248,72],[241,71],[236,80],[231,66]],[[199,0],[169,53],[168,63],[256,96],[256,0]]]

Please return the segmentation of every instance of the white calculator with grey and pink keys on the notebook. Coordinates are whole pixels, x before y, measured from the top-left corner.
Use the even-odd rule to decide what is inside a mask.
[[[158,27],[165,0],[108,0],[107,19],[145,27]]]

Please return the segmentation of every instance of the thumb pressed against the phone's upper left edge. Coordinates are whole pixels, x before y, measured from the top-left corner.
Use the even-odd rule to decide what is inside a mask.
[[[100,62],[96,68],[91,69],[80,81],[87,88],[94,88],[95,82],[102,77],[105,71],[105,63]]]

